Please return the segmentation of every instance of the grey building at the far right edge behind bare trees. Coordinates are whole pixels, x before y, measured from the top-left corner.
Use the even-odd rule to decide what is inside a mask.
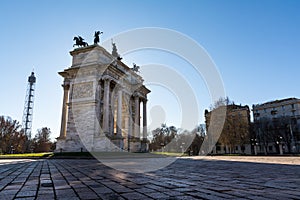
[[[300,99],[269,101],[252,108],[257,153],[300,153]]]

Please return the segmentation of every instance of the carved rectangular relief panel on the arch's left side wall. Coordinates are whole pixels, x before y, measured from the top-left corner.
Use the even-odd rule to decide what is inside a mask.
[[[81,99],[93,96],[93,82],[76,83],[73,85],[73,99]]]

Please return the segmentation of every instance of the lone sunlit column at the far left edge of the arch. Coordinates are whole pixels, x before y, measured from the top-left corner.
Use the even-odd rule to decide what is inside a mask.
[[[68,83],[64,83],[62,85],[64,89],[64,97],[63,97],[63,106],[61,112],[61,127],[60,127],[60,135],[59,138],[66,138],[66,128],[67,128],[67,108],[68,108],[68,98],[69,98],[69,88],[70,85]]]

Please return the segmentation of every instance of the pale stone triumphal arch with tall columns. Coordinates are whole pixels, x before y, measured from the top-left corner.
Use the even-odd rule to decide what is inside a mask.
[[[75,40],[75,38],[74,38]],[[136,65],[121,62],[97,42],[70,52],[64,78],[56,152],[146,152],[147,94]]]

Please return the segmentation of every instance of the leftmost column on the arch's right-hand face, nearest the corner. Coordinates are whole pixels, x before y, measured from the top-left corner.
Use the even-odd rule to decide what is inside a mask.
[[[109,133],[109,93],[110,93],[110,80],[104,80],[104,105],[103,105],[103,132]]]

